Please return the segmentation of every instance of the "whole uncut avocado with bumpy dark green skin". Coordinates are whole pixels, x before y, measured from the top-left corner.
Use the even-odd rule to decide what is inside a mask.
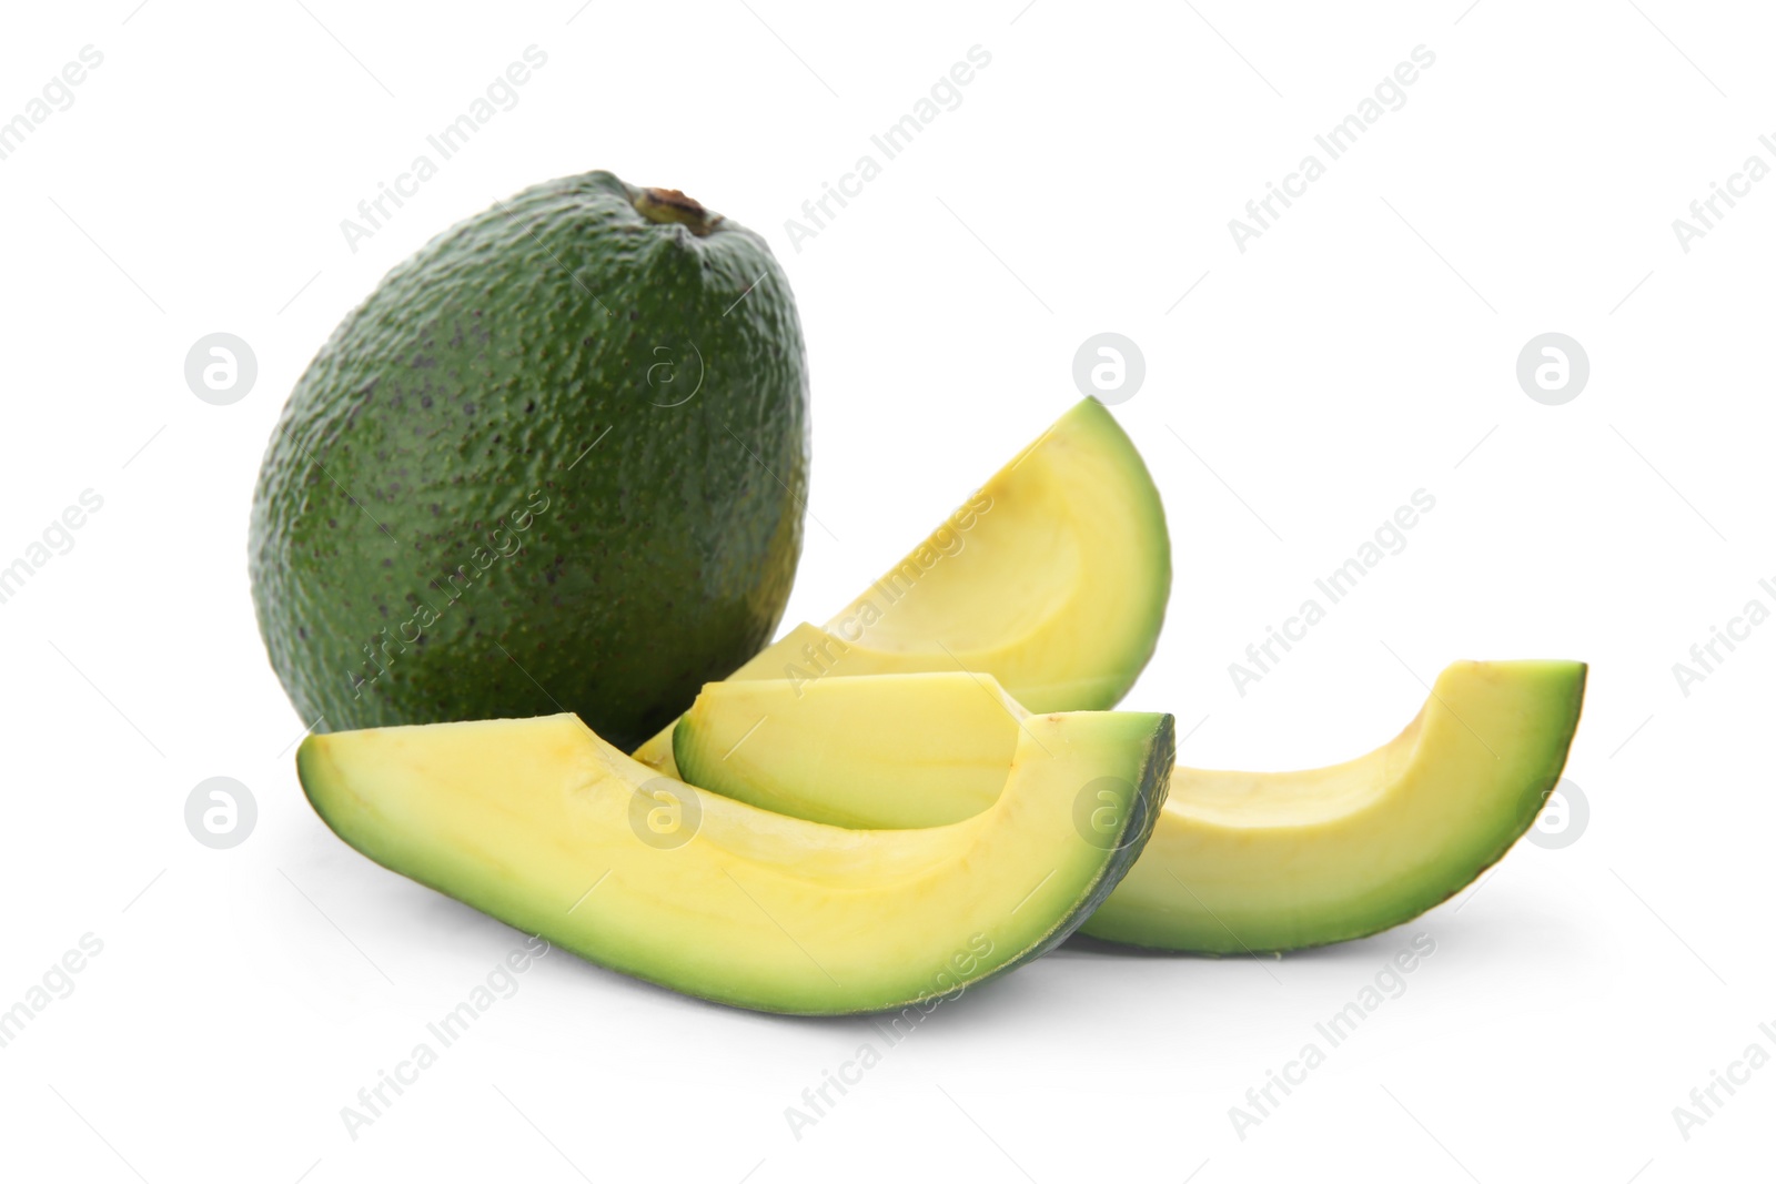
[[[529,188],[394,268],[272,435],[249,563],[316,731],[570,710],[632,749],[764,646],[808,375],[765,241]]]

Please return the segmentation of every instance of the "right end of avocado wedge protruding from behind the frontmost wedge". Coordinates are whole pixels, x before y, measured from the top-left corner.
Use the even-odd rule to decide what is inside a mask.
[[[1467,888],[1559,783],[1582,662],[1455,662],[1405,731],[1325,769],[1172,777],[1158,841],[1094,937],[1243,953],[1401,925]]]

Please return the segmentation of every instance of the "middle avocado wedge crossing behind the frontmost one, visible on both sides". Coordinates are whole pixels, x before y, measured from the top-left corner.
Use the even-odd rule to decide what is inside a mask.
[[[1534,822],[1566,763],[1584,678],[1581,662],[1456,662],[1405,731],[1357,760],[1268,774],[1174,769],[1153,840],[1082,932],[1256,953],[1415,918]],[[998,797],[1005,754],[1032,719],[971,675],[833,678],[799,696],[787,682],[710,683],[678,726],[678,767],[797,817],[954,825]],[[874,769],[833,776],[865,763]]]

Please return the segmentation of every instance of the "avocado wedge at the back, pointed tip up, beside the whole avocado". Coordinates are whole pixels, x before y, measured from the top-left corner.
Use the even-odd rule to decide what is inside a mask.
[[[1115,706],[1172,589],[1165,509],[1128,433],[1083,399],[824,628],[730,680],[984,671],[1032,712]],[[671,728],[636,760],[673,772]]]

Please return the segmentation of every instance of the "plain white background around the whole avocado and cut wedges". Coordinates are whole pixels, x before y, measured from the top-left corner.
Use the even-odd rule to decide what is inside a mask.
[[[1765,1175],[1776,1069],[1685,1141],[1671,1109],[1776,1021],[1771,675],[1776,181],[1684,252],[1671,220],[1776,165],[1753,5],[16,5],[0,119],[103,66],[0,162],[0,561],[103,509],[0,605],[0,1006],[103,953],[0,1049],[9,1179],[1140,1179]],[[305,5],[305,7],[304,7]],[[549,62],[352,252],[339,220],[529,44]],[[991,53],[797,252],[783,229],[970,46]],[[1435,66],[1241,254],[1227,220],[1424,44]],[[1321,158],[1323,153],[1321,153]],[[1167,632],[1131,708],[1193,765],[1391,737],[1460,657],[1591,662],[1588,829],[1369,941],[1254,962],[1067,946],[940,1010],[794,1138],[867,1021],[710,1006],[552,955],[371,1127],[339,1117],[520,944],[309,811],[302,721],[247,589],[254,474],[314,348],[496,197],[611,169],[764,233],[803,312],[815,469],[785,623],[824,620],[1062,414],[1071,360],[1146,353],[1117,408],[1170,515]],[[1188,295],[1185,295],[1188,291]],[[210,407],[183,360],[247,339]],[[1586,348],[1531,401],[1518,350]],[[1272,675],[1263,639],[1414,490],[1437,499]],[[829,533],[828,533],[829,531]],[[1765,635],[1769,634],[1769,635]],[[1392,651],[1392,653],[1391,653]],[[1201,721],[1201,726],[1197,726]],[[259,804],[208,850],[210,776]],[[1414,934],[1437,943],[1259,1127],[1245,1104]],[[1724,1097],[1724,1095],[1723,1095]],[[135,1175],[131,1175],[131,1172]],[[304,1175],[305,1173],[305,1175]],[[751,1175],[748,1175],[751,1173]],[[1192,1173],[1195,1173],[1192,1177]]]

